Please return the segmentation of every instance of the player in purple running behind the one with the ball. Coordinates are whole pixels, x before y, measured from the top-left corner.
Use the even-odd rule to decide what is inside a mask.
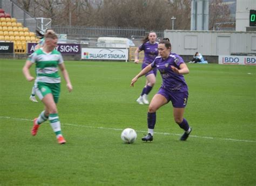
[[[157,46],[158,43],[157,40],[157,34],[156,32],[151,31],[147,36],[142,40],[143,44],[140,45],[136,51],[135,51],[135,63],[139,62],[139,52],[144,51],[144,60],[142,63],[142,69],[147,67],[149,64],[151,64],[156,56],[158,56],[158,50]],[[145,74],[146,76],[146,85],[142,90],[142,94],[140,94],[139,98],[137,99],[137,102],[141,105],[143,104],[149,104],[149,100],[147,98],[147,95],[149,95],[149,92],[152,90],[154,84],[156,83],[156,75],[157,75],[157,69],[153,69]]]

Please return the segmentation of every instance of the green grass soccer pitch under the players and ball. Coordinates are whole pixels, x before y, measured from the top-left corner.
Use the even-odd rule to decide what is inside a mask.
[[[24,63],[0,60],[0,185],[256,184],[255,66],[187,64],[190,137],[179,141],[169,103],[157,111],[154,141],[143,142],[147,105],[136,99],[145,78],[130,87],[140,65],[66,61],[73,92],[62,79],[58,112],[67,143],[58,145],[48,121],[30,134],[43,104],[29,101]],[[158,73],[150,99],[160,84]],[[127,127],[138,134],[134,144],[120,139]]]

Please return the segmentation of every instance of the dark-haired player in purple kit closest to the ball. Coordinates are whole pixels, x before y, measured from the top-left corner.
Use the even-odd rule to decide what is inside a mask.
[[[160,71],[163,82],[156,95],[151,100],[147,112],[148,134],[142,138],[143,141],[152,141],[154,126],[156,124],[156,111],[168,102],[172,102],[173,116],[180,128],[185,131],[180,140],[185,141],[190,135],[192,128],[183,118],[185,106],[187,104],[188,89],[183,74],[188,74],[189,70],[183,59],[174,53],[171,53],[171,44],[169,40],[161,40],[158,44],[158,56],[150,65],[144,68],[131,81],[131,87],[139,77],[145,75],[154,68]]]

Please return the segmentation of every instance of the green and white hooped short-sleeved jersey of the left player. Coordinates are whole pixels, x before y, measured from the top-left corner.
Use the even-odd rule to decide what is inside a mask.
[[[56,49],[51,53],[45,53],[39,48],[31,55],[30,61],[36,63],[36,82],[60,83],[58,65],[64,61],[62,54]]]

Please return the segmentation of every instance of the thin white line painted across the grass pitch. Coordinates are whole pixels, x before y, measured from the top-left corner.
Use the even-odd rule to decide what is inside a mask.
[[[12,118],[12,117],[8,117],[8,116],[0,116],[0,118],[3,118],[3,119],[13,119],[13,120],[24,120],[24,121],[33,121],[33,119]],[[77,127],[86,127],[86,128],[98,128],[98,129],[114,130],[114,131],[123,131],[123,129],[120,129],[120,128],[96,127],[96,126],[77,125],[77,124],[68,124],[68,123],[62,123],[62,125],[77,126]],[[136,131],[136,132],[147,133],[147,131]],[[167,133],[167,132],[154,132],[154,133],[155,133],[155,134],[163,134],[163,135],[177,135],[177,136],[180,136],[180,134]],[[204,138],[204,139],[213,139],[213,140],[225,140],[225,141],[253,142],[253,143],[256,143],[256,141],[253,141],[253,140],[240,140],[240,139],[231,139],[231,138],[201,137],[201,136],[198,136],[198,135],[190,135],[190,137],[193,137],[193,138]]]

